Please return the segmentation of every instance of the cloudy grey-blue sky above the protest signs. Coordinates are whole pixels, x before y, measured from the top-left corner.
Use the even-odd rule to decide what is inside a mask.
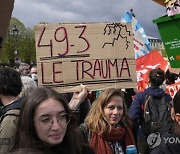
[[[166,9],[152,0],[15,0],[12,16],[32,28],[39,22],[119,22],[131,8],[146,35],[160,37],[152,20]]]

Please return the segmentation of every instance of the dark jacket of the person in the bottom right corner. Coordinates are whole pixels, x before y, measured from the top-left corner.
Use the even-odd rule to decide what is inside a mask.
[[[180,137],[178,138],[173,131],[166,132],[161,136],[160,145],[150,154],[180,154]]]

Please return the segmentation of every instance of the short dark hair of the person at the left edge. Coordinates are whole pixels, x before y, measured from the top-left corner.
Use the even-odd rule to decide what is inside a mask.
[[[12,68],[0,68],[0,94],[18,96],[21,90],[20,74]]]

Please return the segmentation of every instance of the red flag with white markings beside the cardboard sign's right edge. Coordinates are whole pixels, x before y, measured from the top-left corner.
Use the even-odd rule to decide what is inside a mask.
[[[148,74],[152,69],[161,68],[166,71],[167,67],[168,62],[157,50],[136,59],[138,91],[144,91],[146,89],[149,80]]]

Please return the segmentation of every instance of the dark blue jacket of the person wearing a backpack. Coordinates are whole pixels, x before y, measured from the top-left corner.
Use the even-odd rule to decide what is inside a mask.
[[[171,101],[171,96],[166,94],[163,89],[159,87],[149,87],[144,92],[139,92],[136,94],[130,108],[129,108],[129,116],[133,121],[134,125],[134,134],[138,134],[138,137],[141,139],[147,138],[142,132],[142,128],[139,128],[139,125],[143,122],[143,106],[145,103],[146,95],[151,95],[155,97],[162,97],[165,96],[168,102]]]

